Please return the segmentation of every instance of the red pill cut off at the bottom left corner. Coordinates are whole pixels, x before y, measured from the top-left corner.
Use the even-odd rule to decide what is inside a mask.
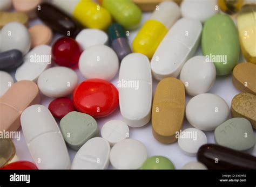
[[[3,169],[3,170],[30,170],[30,169],[37,169],[37,167],[32,162],[18,161],[18,162],[9,163],[1,169]]]

